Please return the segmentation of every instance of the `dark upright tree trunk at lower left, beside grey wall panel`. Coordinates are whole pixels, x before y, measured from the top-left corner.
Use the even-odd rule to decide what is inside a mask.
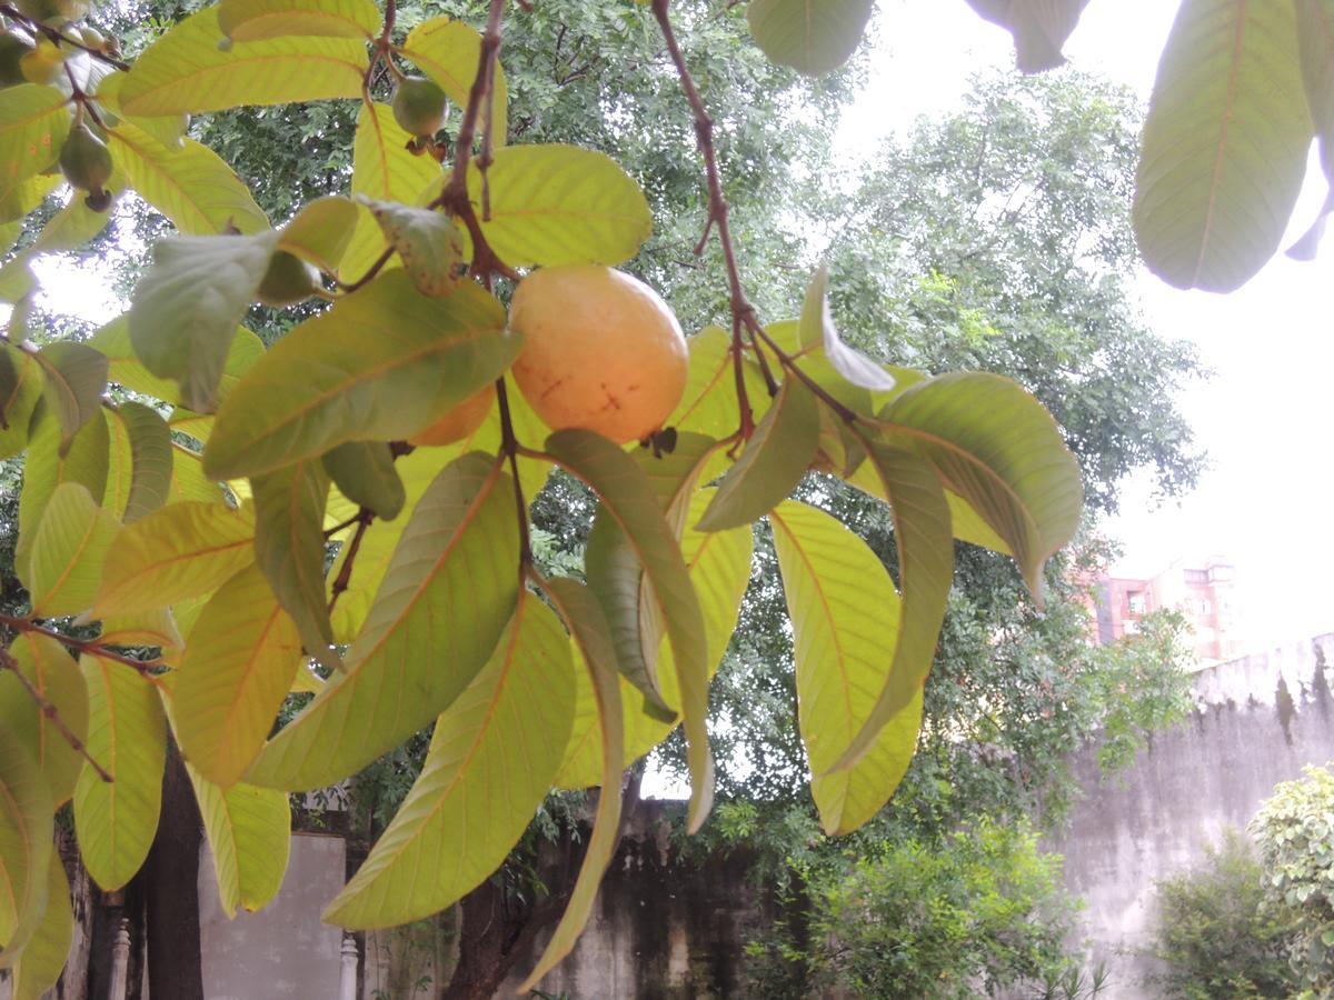
[[[204,1000],[199,944],[199,848],[203,820],[195,789],[175,744],[167,749],[163,812],[144,863],[148,993],[171,1000]]]

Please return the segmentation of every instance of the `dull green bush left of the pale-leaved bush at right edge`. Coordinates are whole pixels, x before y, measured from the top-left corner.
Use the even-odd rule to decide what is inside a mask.
[[[1229,831],[1203,865],[1158,883],[1154,953],[1167,965],[1157,979],[1165,996],[1291,996],[1291,917],[1266,905],[1263,875],[1250,841]]]

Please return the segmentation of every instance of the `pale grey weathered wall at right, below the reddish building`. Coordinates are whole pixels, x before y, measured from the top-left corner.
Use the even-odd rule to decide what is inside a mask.
[[[1274,785],[1334,760],[1334,635],[1197,675],[1194,716],[1159,733],[1131,771],[1103,780],[1093,749],[1077,773],[1086,799],[1050,847],[1083,896],[1083,932],[1107,960],[1110,997],[1147,997],[1154,883],[1198,865],[1229,827],[1245,829]]]

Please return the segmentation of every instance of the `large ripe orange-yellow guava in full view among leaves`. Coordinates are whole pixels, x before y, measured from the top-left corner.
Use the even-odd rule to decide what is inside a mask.
[[[514,293],[510,328],[524,337],[514,379],[555,431],[640,441],[662,428],[686,391],[680,324],[652,288],[614,268],[534,271]]]

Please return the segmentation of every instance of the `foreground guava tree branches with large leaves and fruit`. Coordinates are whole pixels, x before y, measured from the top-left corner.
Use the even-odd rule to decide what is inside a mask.
[[[1042,68],[1083,3],[974,5]],[[523,109],[504,23],[528,4],[508,7],[492,0],[482,31],[434,17],[404,32],[392,0],[224,0],[129,63],[79,0],[0,5],[5,232],[61,177],[72,188],[0,269],[13,304],[0,455],[24,460],[15,567],[29,596],[0,619],[0,965],[21,996],[55,981],[67,951],[51,861],[65,801],[93,879],[124,885],[179,747],[223,903],[256,908],[281,879],[285,795],[432,723],[416,785],[325,919],[439,911],[502,861],[548,788],[600,785],[535,983],[588,915],[624,765],[678,724],[690,828],[708,813],[708,680],[758,519],[830,832],[872,816],[911,759],[952,539],[1013,556],[1041,592],[1075,529],[1078,468],[1015,383],[870,361],[834,329],[823,271],[796,319],[751,305],[708,108],[654,0],[622,17],[656,25],[688,101],[700,245],[718,241],[730,307],[682,340],[650,289],[610,269],[654,224],[639,185],[602,153],[508,141]],[[1137,191],[1141,248],[1169,280],[1235,287],[1273,252],[1313,115],[1327,125],[1330,12],[1183,4]],[[760,48],[807,73],[846,60],[868,16],[868,0],[748,8]],[[185,128],[293,101],[356,108],[352,169],[275,228]],[[33,328],[32,259],[96,236],[131,191],[180,235],[153,247],[129,312],[88,341]],[[269,351],[239,327],[255,301],[309,299],[325,308],[303,307],[313,315]],[[558,467],[598,497],[586,580],[543,575],[531,553],[528,504]],[[808,469],[888,505],[898,579],[788,499]],[[291,691],[313,699],[271,736]]]

